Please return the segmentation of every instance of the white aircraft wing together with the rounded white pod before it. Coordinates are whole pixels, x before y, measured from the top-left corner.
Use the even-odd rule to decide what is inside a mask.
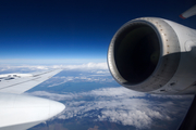
[[[0,130],[26,130],[61,113],[62,103],[21,94],[61,70],[0,75]]]

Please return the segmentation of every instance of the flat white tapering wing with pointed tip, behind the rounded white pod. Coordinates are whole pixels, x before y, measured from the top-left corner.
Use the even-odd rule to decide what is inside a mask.
[[[47,70],[36,74],[0,75],[0,92],[21,94],[51,78],[62,69]]]

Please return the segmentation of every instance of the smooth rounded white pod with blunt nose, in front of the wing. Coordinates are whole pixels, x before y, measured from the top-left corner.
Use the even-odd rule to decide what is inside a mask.
[[[62,103],[41,98],[0,93],[0,130],[21,130],[47,120],[61,113]],[[23,126],[25,125],[25,126]],[[17,126],[17,127],[15,127]],[[27,127],[28,126],[28,127]],[[27,128],[26,128],[27,127]]]

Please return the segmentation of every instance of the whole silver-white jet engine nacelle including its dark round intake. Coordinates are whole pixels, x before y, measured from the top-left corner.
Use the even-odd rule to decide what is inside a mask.
[[[163,18],[130,21],[110,42],[108,66],[135,91],[196,94],[196,30]]]

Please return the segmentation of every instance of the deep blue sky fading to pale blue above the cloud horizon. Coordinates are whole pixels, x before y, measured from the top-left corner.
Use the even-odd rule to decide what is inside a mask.
[[[196,28],[195,0],[2,0],[0,58],[106,58],[114,32],[143,16]]]

